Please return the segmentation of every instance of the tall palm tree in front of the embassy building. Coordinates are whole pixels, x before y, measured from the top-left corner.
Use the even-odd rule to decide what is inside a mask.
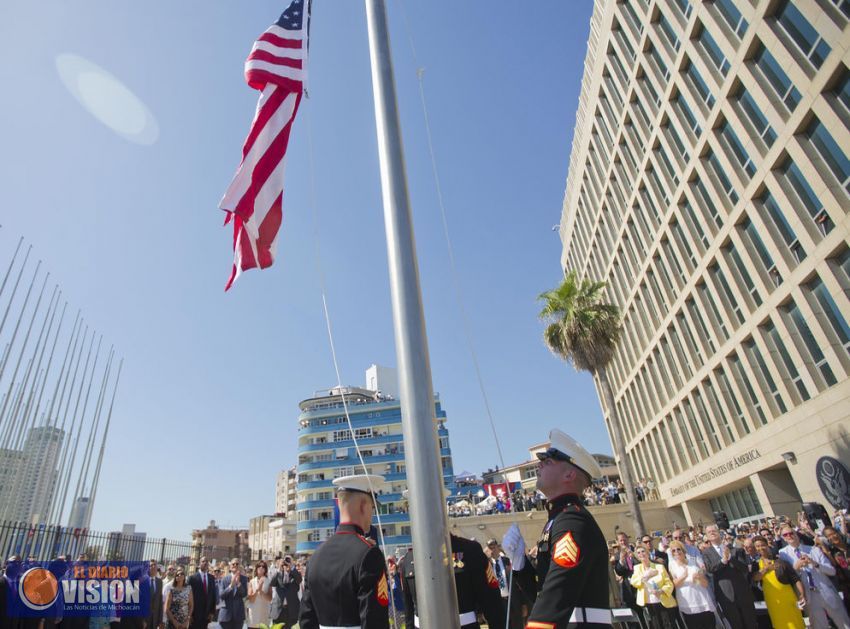
[[[548,323],[543,340],[552,353],[572,363],[578,371],[589,371],[599,383],[608,410],[614,451],[620,462],[620,476],[634,516],[635,534],[640,538],[644,534],[643,517],[607,373],[620,340],[620,309],[604,301],[604,289],[605,282],[579,280],[576,272],[571,271],[560,286],[538,297],[545,304],[539,316]]]

